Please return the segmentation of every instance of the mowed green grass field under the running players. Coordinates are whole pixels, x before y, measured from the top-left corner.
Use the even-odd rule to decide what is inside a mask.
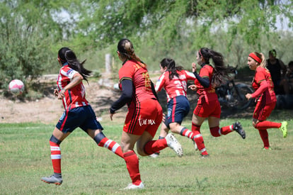
[[[188,138],[176,135],[183,145],[183,157],[170,148],[157,158],[139,157],[145,189],[121,191],[131,182],[125,162],[109,150],[98,147],[81,129],[61,145],[63,184],[46,184],[41,177],[52,174],[49,139],[54,124],[0,124],[0,194],[293,194],[293,120],[282,138],[269,129],[272,150],[251,126],[251,118],[221,120],[227,126],[239,120],[246,130],[214,138],[207,121],[201,131],[210,158],[201,159]],[[280,121],[280,115],[270,118]],[[115,118],[114,118],[115,119]],[[105,135],[120,143],[123,123],[101,121]],[[183,125],[190,128],[190,121]],[[158,138],[159,131],[155,138]]]

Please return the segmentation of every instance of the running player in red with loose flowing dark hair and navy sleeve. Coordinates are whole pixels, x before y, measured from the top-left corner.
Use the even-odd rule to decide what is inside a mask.
[[[214,65],[209,64],[212,58]],[[200,74],[196,72],[196,65],[193,63],[193,73],[195,74],[195,84],[190,85],[190,89],[196,90],[199,94],[197,106],[193,111],[192,131],[195,135],[195,143],[202,157],[209,157],[205,144],[200,134],[200,126],[208,118],[209,130],[214,137],[226,135],[236,130],[244,139],[245,131],[241,127],[241,123],[236,122],[231,126],[219,128],[219,119],[221,116],[221,106],[214,87],[219,86],[227,77],[227,69],[224,67],[224,59],[221,53],[210,50],[209,48],[200,48],[197,52],[197,64],[202,68]]]

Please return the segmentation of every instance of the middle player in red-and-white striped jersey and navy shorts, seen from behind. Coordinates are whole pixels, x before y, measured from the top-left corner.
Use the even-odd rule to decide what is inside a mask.
[[[165,138],[168,131],[186,136],[194,140],[191,130],[181,126],[183,118],[190,111],[190,104],[187,99],[187,82],[195,80],[193,72],[188,72],[183,67],[176,66],[173,59],[164,58],[160,62],[160,72],[162,73],[156,82],[156,91],[165,89],[167,95],[167,109],[165,121],[161,125],[159,139]],[[154,153],[151,157],[157,157],[159,152]]]

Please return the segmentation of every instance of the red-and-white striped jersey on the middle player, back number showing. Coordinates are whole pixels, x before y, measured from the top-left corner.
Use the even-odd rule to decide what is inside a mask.
[[[170,101],[176,96],[186,96],[187,93],[187,81],[195,80],[195,74],[186,70],[177,71],[179,78],[174,76],[173,79],[169,79],[169,72],[166,71],[159,77],[156,82],[156,91],[161,91],[162,88],[166,90],[167,99]]]

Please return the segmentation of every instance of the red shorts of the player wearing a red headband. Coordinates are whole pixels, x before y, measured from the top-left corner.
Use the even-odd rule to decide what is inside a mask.
[[[276,101],[273,101],[270,104],[264,104],[263,101],[258,101],[256,103],[254,112],[253,112],[253,118],[257,119],[258,121],[265,121],[270,116],[270,113],[272,113],[272,110],[276,106]]]

